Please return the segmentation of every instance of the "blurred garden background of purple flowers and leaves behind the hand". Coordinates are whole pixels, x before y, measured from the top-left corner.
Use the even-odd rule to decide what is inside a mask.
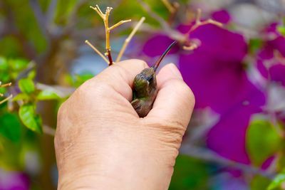
[[[132,19],[111,33],[113,58],[142,16],[123,59],[152,64],[179,41],[162,65],[177,64],[196,105],[170,189],[285,189],[284,0],[1,0],[1,190],[56,189],[58,107],[108,66],[84,43],[105,52],[95,4]],[[223,26],[189,32],[197,9]]]

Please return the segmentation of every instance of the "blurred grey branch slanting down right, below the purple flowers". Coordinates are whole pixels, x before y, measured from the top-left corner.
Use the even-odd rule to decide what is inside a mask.
[[[190,157],[202,159],[207,162],[215,162],[217,164],[222,164],[225,167],[234,167],[236,169],[240,169],[247,173],[259,174],[269,179],[274,179],[275,176],[274,173],[271,173],[269,171],[264,171],[257,167],[253,167],[251,165],[234,162],[230,159],[220,157],[218,154],[212,152],[211,150],[195,147],[192,146],[191,144],[183,144],[182,147],[180,148],[180,154],[186,154]]]

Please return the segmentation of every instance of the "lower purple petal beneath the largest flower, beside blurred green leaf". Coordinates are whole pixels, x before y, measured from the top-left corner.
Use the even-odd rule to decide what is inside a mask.
[[[242,105],[222,115],[207,134],[208,147],[222,157],[249,164],[245,138],[251,115],[252,110]]]

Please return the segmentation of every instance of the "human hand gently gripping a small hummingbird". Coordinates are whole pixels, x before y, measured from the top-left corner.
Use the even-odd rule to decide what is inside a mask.
[[[133,109],[142,60],[116,63],[79,87],[58,111],[58,189],[167,189],[195,99],[173,64],[157,74],[147,117]]]

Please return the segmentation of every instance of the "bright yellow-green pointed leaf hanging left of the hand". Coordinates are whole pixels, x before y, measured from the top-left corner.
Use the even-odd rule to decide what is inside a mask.
[[[22,105],[19,109],[19,116],[21,121],[28,129],[42,133],[41,117],[36,115],[35,106],[32,104]]]

